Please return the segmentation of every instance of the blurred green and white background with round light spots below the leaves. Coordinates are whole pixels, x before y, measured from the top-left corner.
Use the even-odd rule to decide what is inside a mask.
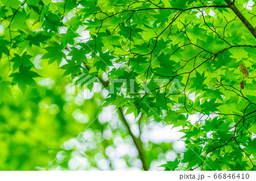
[[[100,83],[94,92],[85,89],[83,97],[57,64],[38,59],[38,87],[28,86],[23,95],[13,86],[12,96],[2,96],[0,170],[143,170],[115,107],[101,107],[108,92]],[[183,143],[174,142],[170,128],[144,116],[135,119],[133,113],[126,119],[141,137],[150,170],[162,170],[162,163],[180,157]]]

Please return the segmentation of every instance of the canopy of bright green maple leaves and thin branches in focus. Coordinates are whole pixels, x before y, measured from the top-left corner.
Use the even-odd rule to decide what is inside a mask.
[[[165,170],[255,170],[255,3],[1,0],[0,101],[15,85],[23,94],[36,86],[33,60],[56,62],[64,76],[102,83],[110,91],[103,106],[116,106],[124,121],[127,109],[180,127],[186,150]],[[128,81],[110,90],[112,79]]]

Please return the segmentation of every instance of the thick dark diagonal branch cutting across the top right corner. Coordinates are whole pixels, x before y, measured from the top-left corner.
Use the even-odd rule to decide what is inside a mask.
[[[251,32],[251,34],[255,37],[256,39],[256,30],[255,28],[251,25],[251,23],[243,16],[243,14],[237,9],[237,7],[234,5],[234,1],[231,2],[230,0],[225,0],[225,2],[228,4],[230,9],[237,15],[237,17],[242,21],[242,23],[246,26],[246,28]]]

